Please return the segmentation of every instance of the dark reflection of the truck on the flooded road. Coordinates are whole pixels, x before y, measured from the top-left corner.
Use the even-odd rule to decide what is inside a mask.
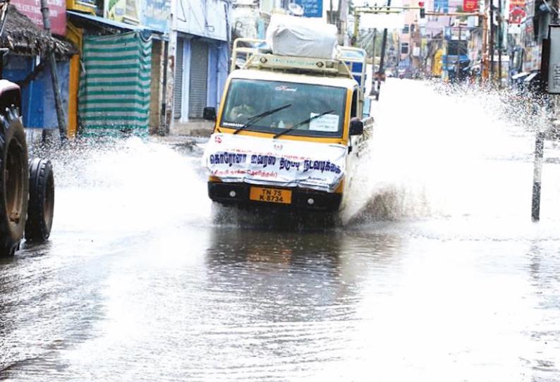
[[[341,240],[336,231],[293,235],[216,228],[207,249],[209,283],[226,283],[226,292],[254,305],[251,320],[320,319],[333,314],[323,307],[349,297],[340,292]]]

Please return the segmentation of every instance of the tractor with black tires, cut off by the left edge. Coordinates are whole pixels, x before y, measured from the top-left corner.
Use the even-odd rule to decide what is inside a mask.
[[[7,9],[8,1],[0,1],[0,34],[4,31]],[[0,51],[0,56],[4,56],[8,49]],[[24,233],[30,242],[47,240],[52,226],[52,166],[42,159],[28,163],[20,109],[20,87],[0,80],[0,256],[13,255]]]

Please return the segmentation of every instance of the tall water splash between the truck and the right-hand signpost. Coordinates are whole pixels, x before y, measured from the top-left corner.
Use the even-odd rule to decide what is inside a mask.
[[[506,92],[389,80],[373,114],[369,193],[349,221],[406,218],[525,219],[538,109],[525,125]],[[536,107],[536,106],[535,106]]]

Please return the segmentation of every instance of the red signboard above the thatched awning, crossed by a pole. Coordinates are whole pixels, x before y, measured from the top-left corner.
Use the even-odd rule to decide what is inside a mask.
[[[44,27],[40,0],[12,0],[11,4],[28,16],[35,25]],[[51,19],[51,32],[54,35],[66,35],[66,0],[47,0],[47,6]]]

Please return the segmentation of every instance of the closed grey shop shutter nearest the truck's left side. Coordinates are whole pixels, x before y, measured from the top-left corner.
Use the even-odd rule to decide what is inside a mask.
[[[202,118],[206,107],[208,81],[208,45],[194,40],[191,42],[190,85],[188,99],[189,118]]]

